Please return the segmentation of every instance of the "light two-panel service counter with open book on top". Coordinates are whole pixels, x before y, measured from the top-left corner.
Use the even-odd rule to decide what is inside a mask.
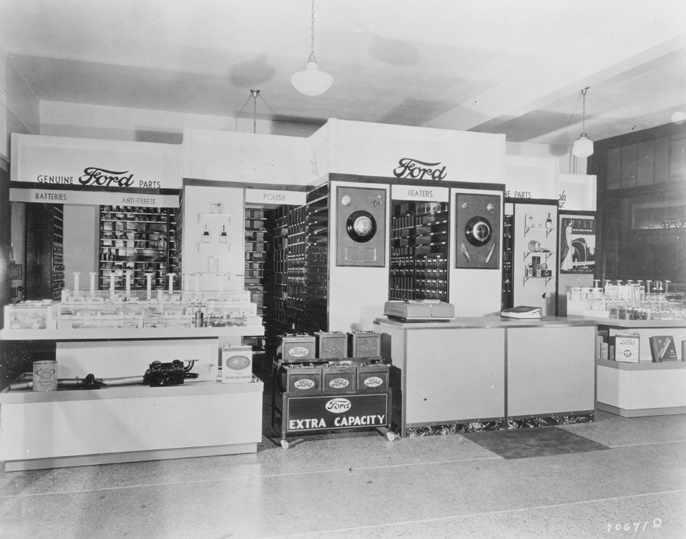
[[[595,321],[377,318],[401,435],[595,420]]]

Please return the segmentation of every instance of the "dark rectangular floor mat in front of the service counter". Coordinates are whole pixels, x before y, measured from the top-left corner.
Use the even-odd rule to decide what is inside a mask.
[[[504,459],[551,457],[609,449],[608,446],[557,427],[474,432],[463,436]]]

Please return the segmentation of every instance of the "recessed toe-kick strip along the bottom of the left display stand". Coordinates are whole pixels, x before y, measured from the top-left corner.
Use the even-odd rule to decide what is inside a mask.
[[[257,453],[257,443],[231,444],[226,446],[188,447],[181,449],[159,449],[156,451],[130,451],[128,453],[104,453],[101,455],[78,455],[45,459],[11,460],[5,462],[5,472],[43,470],[47,468],[71,468],[73,466],[95,466],[97,464],[120,464],[145,460],[185,459],[191,457],[216,457]]]

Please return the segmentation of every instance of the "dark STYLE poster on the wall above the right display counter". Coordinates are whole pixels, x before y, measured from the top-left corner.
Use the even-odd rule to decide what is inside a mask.
[[[560,274],[595,272],[595,217],[560,215]]]

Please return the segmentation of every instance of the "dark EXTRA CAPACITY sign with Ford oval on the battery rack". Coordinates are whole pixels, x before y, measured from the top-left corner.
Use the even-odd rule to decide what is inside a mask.
[[[286,406],[286,431],[324,431],[387,427],[388,393],[292,397]]]

